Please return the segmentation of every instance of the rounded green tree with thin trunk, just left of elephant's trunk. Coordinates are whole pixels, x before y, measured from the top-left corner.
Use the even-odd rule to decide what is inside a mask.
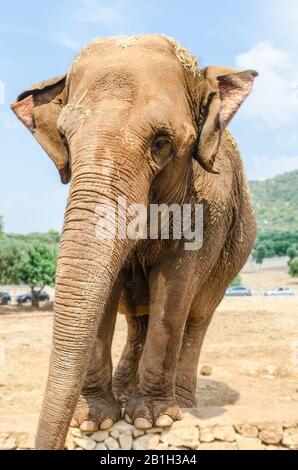
[[[31,289],[32,307],[39,306],[38,296],[42,289],[54,285],[57,250],[43,243],[35,243],[28,250],[28,259],[20,271],[21,280]]]

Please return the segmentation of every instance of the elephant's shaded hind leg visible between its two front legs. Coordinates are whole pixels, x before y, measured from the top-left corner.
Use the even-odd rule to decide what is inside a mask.
[[[127,339],[113,376],[113,391],[121,405],[132,395],[137,385],[137,370],[148,328],[148,315],[126,315]]]

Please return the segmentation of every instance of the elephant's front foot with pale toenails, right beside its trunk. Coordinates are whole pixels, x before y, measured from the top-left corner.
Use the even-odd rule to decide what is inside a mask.
[[[80,395],[71,426],[93,432],[108,429],[121,419],[121,408],[114,395],[107,398]]]

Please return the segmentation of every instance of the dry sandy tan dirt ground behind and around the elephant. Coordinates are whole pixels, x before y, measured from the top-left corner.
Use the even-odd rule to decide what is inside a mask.
[[[242,283],[251,298],[225,298],[209,328],[200,367],[197,398],[215,417],[247,420],[298,417],[298,282],[285,266],[246,268]],[[288,285],[289,298],[266,298],[263,289]],[[51,306],[0,307],[0,432],[31,432],[41,406],[52,330]],[[118,316],[113,344],[116,365],[126,323]],[[210,413],[209,413],[210,416]]]

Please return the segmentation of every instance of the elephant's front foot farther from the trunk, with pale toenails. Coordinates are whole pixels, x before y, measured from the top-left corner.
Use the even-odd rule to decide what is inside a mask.
[[[134,395],[127,402],[124,417],[138,429],[149,429],[153,426],[171,426],[174,421],[180,420],[182,415],[174,399],[157,400]]]

